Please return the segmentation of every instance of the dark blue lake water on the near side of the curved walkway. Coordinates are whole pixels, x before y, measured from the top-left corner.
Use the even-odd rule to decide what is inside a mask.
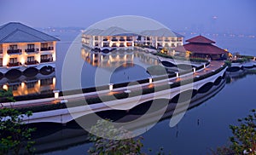
[[[224,80],[218,87],[210,89],[210,93],[206,92],[205,101],[195,101],[195,107],[191,107],[173,128],[169,126],[172,112],[166,112],[159,123],[143,134],[143,151],[148,152],[150,148],[157,152],[160,147],[164,147],[165,152],[172,154],[207,154],[211,149],[228,145],[231,135],[229,125],[237,124],[238,118],[245,117],[256,107],[255,78],[256,75],[246,75],[229,79],[229,83]],[[128,113],[105,112],[105,115],[112,114],[115,115],[113,118],[119,119],[118,117],[138,115],[142,109],[147,108],[148,106],[143,105]],[[86,154],[91,146],[86,141],[88,133],[74,122],[67,123],[66,127],[49,123],[40,125],[35,139],[38,153]],[[140,128],[139,125],[137,128]]]

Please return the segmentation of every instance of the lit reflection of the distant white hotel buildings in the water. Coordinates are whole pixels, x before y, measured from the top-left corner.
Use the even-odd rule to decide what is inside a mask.
[[[114,49],[108,52],[98,52],[88,48],[81,49],[81,57],[91,66],[111,68],[116,66],[133,66],[134,63],[146,66],[159,65],[159,60],[154,55],[148,55],[142,50]]]

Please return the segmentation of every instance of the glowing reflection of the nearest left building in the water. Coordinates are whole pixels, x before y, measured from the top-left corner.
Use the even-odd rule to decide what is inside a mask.
[[[52,94],[55,89],[55,83],[55,72],[51,72],[49,75],[38,73],[32,78],[25,76],[12,80],[2,78],[0,80],[0,88],[12,90],[14,96],[41,95]]]

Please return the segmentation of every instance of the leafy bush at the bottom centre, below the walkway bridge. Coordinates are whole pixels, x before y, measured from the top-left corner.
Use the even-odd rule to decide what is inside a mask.
[[[131,133],[123,128],[115,129],[107,120],[99,120],[96,125],[91,128],[90,133],[102,135],[99,137],[90,134],[90,141],[93,142],[93,146],[88,150],[90,154],[144,154],[141,152],[141,148],[143,147],[141,142],[142,137],[137,139],[129,138]],[[113,140],[113,138],[118,137],[120,134],[127,137],[127,139]]]

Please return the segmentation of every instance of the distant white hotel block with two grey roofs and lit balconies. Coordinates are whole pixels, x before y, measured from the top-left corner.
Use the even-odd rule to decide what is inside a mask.
[[[90,49],[132,49],[138,44],[158,48],[183,45],[183,36],[166,28],[129,32],[117,26],[106,30],[90,29],[82,34],[82,43]]]

